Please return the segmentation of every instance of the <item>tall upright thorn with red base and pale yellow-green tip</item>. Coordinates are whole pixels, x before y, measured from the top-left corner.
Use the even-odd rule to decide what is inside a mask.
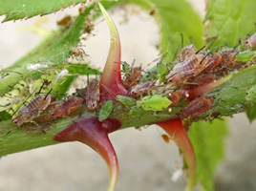
[[[100,3],[98,3],[98,6],[108,23],[111,34],[108,58],[99,81],[100,102],[103,102],[105,100],[115,100],[117,95],[127,95],[128,91],[121,80],[121,47],[117,27],[104,7]],[[116,95],[109,94],[109,91]]]

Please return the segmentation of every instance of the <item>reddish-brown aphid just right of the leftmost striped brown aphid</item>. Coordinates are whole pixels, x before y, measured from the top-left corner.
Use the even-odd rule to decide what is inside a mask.
[[[77,110],[83,103],[83,98],[78,96],[71,96],[66,100],[60,101],[51,111],[51,117],[66,117],[70,113]]]

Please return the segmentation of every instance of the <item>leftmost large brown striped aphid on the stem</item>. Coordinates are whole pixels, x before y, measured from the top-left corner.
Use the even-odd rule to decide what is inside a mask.
[[[33,122],[33,118],[39,117],[51,103],[52,96],[49,94],[39,94],[35,96],[27,105],[17,111],[17,116],[12,118],[15,125],[21,126],[23,123]]]

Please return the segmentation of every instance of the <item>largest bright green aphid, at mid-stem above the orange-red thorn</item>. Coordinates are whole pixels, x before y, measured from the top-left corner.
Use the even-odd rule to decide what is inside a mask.
[[[145,111],[160,112],[171,105],[172,101],[166,96],[145,96],[137,104]]]

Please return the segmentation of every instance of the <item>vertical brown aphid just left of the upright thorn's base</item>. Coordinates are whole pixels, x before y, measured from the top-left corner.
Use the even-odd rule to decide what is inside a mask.
[[[88,110],[94,111],[99,100],[98,82],[96,79],[90,81],[86,88],[86,105]]]

